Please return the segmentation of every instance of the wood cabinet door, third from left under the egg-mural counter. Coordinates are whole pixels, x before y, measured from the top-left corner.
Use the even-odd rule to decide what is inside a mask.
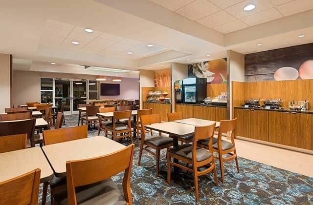
[[[284,145],[291,145],[290,112],[268,112],[268,141]]]

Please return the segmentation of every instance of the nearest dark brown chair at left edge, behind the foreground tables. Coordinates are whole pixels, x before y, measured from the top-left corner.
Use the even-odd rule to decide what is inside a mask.
[[[36,119],[0,122],[0,136],[27,134],[30,146],[35,146],[35,124]]]

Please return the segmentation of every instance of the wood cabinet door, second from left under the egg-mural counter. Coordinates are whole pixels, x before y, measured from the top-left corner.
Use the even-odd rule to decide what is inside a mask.
[[[268,111],[250,110],[249,138],[268,141]]]

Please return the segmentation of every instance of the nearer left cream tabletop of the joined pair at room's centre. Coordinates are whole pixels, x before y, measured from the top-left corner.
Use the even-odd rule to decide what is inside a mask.
[[[183,137],[194,133],[195,126],[184,123],[166,122],[166,123],[154,123],[146,125],[147,128],[153,129],[159,132],[167,133],[169,135],[175,135]]]

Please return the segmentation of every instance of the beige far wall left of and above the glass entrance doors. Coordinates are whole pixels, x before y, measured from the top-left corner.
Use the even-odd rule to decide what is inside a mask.
[[[13,102],[14,105],[25,102],[40,102],[40,78],[68,78],[95,80],[93,75],[47,73],[33,71],[13,71]]]

